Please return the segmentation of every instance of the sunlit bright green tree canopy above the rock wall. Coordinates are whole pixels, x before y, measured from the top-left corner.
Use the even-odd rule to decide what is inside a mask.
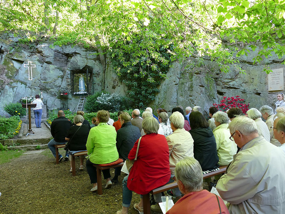
[[[0,30],[22,29],[55,40],[82,43],[123,65],[209,56],[221,71],[258,45],[255,62],[272,53],[284,56],[285,0],[0,0]],[[227,44],[227,46],[225,45]],[[236,47],[235,49],[229,47]],[[119,52],[112,51],[119,48]],[[166,49],[170,58],[160,49]],[[131,54],[132,61],[125,54]],[[237,68],[240,69],[240,68]],[[159,72],[159,70],[157,70]],[[142,75],[144,71],[142,71]],[[268,72],[268,71],[267,71]]]

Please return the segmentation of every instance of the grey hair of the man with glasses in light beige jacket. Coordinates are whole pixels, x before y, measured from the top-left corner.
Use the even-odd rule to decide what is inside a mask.
[[[247,116],[236,116],[229,123],[229,131],[231,133],[239,131],[243,135],[258,133],[256,123]]]

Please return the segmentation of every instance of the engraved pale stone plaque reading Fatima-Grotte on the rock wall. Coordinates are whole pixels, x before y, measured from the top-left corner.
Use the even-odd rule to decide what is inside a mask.
[[[284,90],[283,68],[274,69],[268,74],[268,91]]]

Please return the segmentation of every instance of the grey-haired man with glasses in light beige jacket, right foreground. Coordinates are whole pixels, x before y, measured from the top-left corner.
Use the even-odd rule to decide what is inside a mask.
[[[284,213],[285,153],[267,142],[254,120],[240,116],[229,124],[240,151],[217,183],[230,213]]]

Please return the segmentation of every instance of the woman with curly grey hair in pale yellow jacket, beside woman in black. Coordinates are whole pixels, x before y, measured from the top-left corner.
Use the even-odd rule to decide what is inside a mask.
[[[217,128],[213,130],[216,139],[217,153],[219,157],[218,164],[220,166],[227,166],[233,160],[233,155],[237,153],[237,145],[229,139],[231,136],[229,132],[229,117],[223,111],[217,111],[213,118]]]

